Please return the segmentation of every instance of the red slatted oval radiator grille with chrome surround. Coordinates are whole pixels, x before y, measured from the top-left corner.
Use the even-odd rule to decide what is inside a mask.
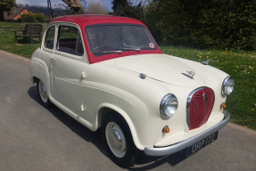
[[[191,93],[188,99],[187,121],[189,130],[192,130],[207,122],[215,97],[211,88],[202,87]]]

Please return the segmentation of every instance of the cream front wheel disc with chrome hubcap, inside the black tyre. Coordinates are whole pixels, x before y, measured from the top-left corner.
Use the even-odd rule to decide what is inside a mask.
[[[114,122],[108,123],[106,126],[105,135],[112,153],[116,157],[124,157],[126,153],[126,139],[122,130],[120,129],[120,126]]]

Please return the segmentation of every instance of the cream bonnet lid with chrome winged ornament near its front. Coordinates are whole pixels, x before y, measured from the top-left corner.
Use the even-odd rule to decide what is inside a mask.
[[[203,85],[204,78],[183,61],[165,54],[142,54],[117,59],[116,66],[170,85],[195,87]]]

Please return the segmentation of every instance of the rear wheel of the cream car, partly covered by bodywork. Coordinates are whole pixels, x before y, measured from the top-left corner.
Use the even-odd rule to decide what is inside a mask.
[[[43,106],[45,106],[45,108],[51,107],[52,102],[49,100],[49,97],[48,97],[47,92],[46,92],[45,84],[42,80],[39,80],[37,82],[37,92],[40,96],[40,100],[43,103]]]

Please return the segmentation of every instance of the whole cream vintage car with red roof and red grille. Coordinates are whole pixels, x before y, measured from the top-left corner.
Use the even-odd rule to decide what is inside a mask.
[[[234,80],[207,62],[161,53],[139,21],[70,15],[50,21],[33,53],[30,79],[52,103],[90,130],[103,130],[111,159],[133,164],[138,151],[191,155],[215,141],[230,118]]]

